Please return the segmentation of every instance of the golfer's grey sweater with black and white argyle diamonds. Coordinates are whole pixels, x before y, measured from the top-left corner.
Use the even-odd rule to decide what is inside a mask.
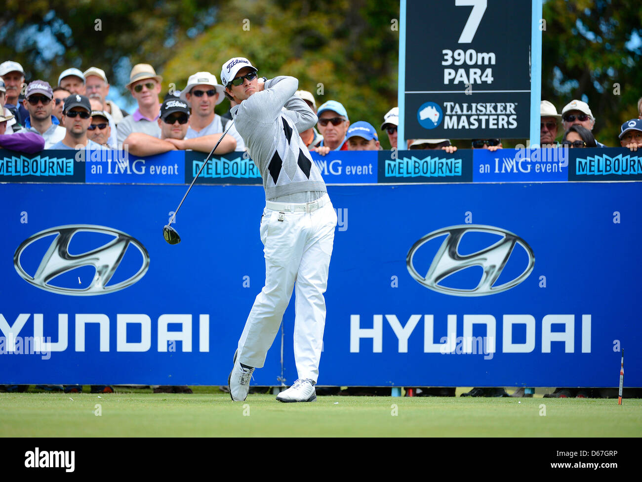
[[[231,110],[236,130],[263,176],[268,200],[307,191],[327,192],[299,135],[317,123],[317,116],[294,95],[298,87],[294,77],[275,77],[265,83],[265,90]]]

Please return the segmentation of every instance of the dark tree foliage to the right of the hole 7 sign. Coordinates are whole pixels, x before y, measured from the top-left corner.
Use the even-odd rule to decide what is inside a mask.
[[[638,117],[642,96],[639,1],[546,1],[544,19],[542,99],[558,112],[572,99],[586,101],[596,139],[618,146],[620,125]]]

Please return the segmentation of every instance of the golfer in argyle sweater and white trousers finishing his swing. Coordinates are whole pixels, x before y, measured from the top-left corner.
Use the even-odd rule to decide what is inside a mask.
[[[294,357],[299,379],[281,402],[312,402],[321,357],[325,299],[336,213],[317,165],[299,132],[317,123],[306,102],[295,96],[299,81],[257,78],[247,58],[231,58],[221,70],[230,111],[250,157],[263,176],[265,286],[234,354],[229,377],[232,400],[245,400],[255,368],[263,367],[295,288]]]

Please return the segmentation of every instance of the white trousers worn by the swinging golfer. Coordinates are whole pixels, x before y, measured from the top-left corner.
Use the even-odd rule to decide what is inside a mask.
[[[282,219],[282,220],[281,220]],[[294,358],[300,379],[317,382],[325,327],[327,277],[334,243],[336,212],[327,203],[311,212],[265,208],[261,241],[265,246],[265,286],[254,300],[238,345],[238,360],[263,367],[295,293]]]

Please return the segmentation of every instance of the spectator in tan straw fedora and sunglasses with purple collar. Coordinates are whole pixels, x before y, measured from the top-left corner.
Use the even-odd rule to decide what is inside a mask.
[[[134,114],[125,117],[116,127],[116,140],[121,146],[127,136],[133,132],[142,132],[152,137],[160,137],[158,123],[160,115],[160,82],[162,77],[149,64],[136,64],[129,76],[129,83],[125,86],[136,99],[138,108]]]

